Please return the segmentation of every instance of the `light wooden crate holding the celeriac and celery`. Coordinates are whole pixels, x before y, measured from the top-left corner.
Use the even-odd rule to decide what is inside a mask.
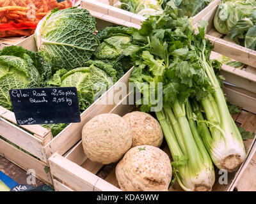
[[[232,75],[232,72],[230,74]],[[254,114],[256,110],[256,95],[253,95],[255,93],[228,84],[225,85],[224,90],[229,101],[234,101],[236,98],[243,100],[241,102],[241,113],[232,115],[232,117],[238,126],[244,127],[247,131],[252,131],[250,128],[252,122],[256,124],[256,115]],[[253,97],[250,95],[252,101],[244,94],[245,91],[247,94],[252,94]],[[132,94],[132,92],[130,94]],[[127,101],[127,98],[128,95],[123,101]],[[123,116],[125,113],[132,112],[134,108],[134,105],[124,105],[120,102],[120,104],[116,105],[109,113],[116,113]],[[252,109],[254,113],[250,112]],[[79,133],[79,135],[81,136],[81,133]],[[256,149],[252,149],[253,143],[255,143],[255,139],[244,141],[247,155],[255,152]],[[162,145],[161,148],[170,156],[167,145]],[[250,157],[248,157],[248,159],[250,159]],[[216,184],[214,184],[212,190],[232,191],[234,189],[234,182],[240,171],[248,164],[248,159],[241,164],[239,170],[228,173],[228,184],[220,185],[218,183],[219,176],[221,175],[219,175],[219,171],[216,170]],[[56,191],[120,191],[115,177],[116,164],[102,165],[90,161],[84,154],[81,141],[65,156],[61,156],[61,154],[58,153],[53,154],[49,158],[49,164]],[[182,191],[182,189],[179,187],[179,184],[175,183],[170,188],[170,191]]]

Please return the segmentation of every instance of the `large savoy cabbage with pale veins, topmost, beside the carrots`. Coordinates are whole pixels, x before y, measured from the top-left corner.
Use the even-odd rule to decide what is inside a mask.
[[[83,67],[99,46],[99,40],[93,34],[95,24],[95,18],[88,10],[76,7],[52,10],[36,28],[38,50],[56,69],[69,71]]]

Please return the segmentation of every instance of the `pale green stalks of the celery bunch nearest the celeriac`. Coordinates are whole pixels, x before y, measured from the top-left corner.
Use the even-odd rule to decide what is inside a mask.
[[[176,99],[171,108],[156,112],[156,116],[163,129],[173,161],[185,156],[189,158],[188,163],[178,165],[178,169],[174,171],[182,189],[211,191],[215,180],[213,164],[196,131],[195,121],[191,117],[191,107],[189,108],[191,115],[187,119],[185,104]]]

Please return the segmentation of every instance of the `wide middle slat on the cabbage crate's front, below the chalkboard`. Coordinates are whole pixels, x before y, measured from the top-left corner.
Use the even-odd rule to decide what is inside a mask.
[[[1,118],[0,135],[38,157],[42,161],[47,161],[41,140]]]

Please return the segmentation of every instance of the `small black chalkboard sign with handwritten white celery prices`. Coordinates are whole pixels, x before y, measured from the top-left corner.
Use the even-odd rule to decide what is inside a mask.
[[[18,125],[81,122],[76,87],[11,89]]]

